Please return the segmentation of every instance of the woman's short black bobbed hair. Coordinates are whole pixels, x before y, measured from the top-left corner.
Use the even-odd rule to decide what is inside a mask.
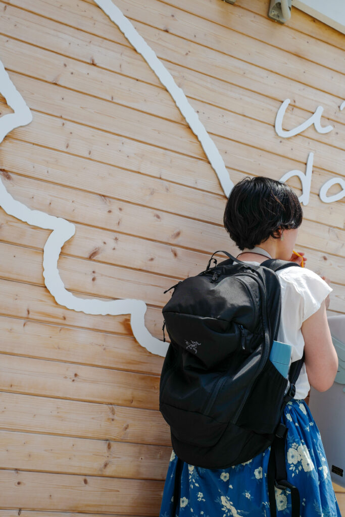
[[[240,250],[252,249],[278,229],[289,230],[302,224],[303,210],[296,193],[281,181],[246,176],[230,192],[223,224]]]

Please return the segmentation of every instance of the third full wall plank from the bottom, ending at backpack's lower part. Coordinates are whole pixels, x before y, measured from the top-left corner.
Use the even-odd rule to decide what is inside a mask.
[[[171,445],[168,424],[155,410],[0,392],[0,411],[6,431]]]

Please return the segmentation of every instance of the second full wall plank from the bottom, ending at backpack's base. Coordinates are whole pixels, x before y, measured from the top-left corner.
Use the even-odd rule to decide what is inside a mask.
[[[171,447],[0,431],[1,466],[55,474],[166,478]]]

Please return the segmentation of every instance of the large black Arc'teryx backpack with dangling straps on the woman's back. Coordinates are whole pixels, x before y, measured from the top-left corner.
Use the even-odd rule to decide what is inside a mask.
[[[164,291],[174,289],[162,309],[163,335],[165,326],[170,345],[159,394],[160,412],[170,425],[179,459],[173,515],[179,501],[181,460],[204,468],[227,468],[249,461],[271,445],[267,473],[271,517],[276,516],[274,486],[291,489],[292,516],[299,517],[298,490],[286,480],[287,428],[280,417],[295,394],[304,356],[291,364],[287,389],[288,379],[269,360],[269,353],[277,340],[281,313],[275,271],[301,266],[278,259],[257,266],[222,253],[229,259],[217,265],[213,254],[199,275]]]

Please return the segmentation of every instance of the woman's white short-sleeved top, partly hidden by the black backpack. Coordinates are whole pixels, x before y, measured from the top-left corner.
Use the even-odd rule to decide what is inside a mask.
[[[259,262],[242,261],[249,264]],[[333,291],[327,282],[306,267],[288,267],[277,271],[281,287],[281,316],[277,341],[292,345],[291,361],[303,356],[304,339],[302,323],[321,307],[328,293]],[[296,382],[295,399],[305,399],[310,384],[303,363]]]

